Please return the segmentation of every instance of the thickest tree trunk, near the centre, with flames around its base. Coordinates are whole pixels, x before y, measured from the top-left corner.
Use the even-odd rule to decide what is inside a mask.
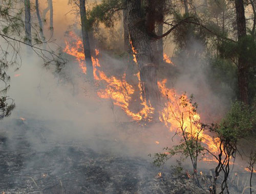
[[[157,68],[151,38],[147,33],[150,23],[145,23],[141,14],[141,2],[127,0],[127,22],[140,71],[143,98],[155,107],[159,100]]]

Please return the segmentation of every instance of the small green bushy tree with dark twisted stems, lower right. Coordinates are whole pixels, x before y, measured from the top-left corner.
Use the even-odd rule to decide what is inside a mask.
[[[212,193],[217,193],[217,179],[221,172],[224,173],[224,179],[221,183],[220,193],[224,193],[225,190],[229,193],[227,180],[230,172],[230,159],[235,159],[236,153],[240,153],[238,142],[248,136],[255,121],[254,115],[253,109],[237,101],[232,104],[230,111],[219,125],[211,126],[211,131],[215,132],[220,138],[218,156],[205,149],[218,161],[218,165],[215,168]]]

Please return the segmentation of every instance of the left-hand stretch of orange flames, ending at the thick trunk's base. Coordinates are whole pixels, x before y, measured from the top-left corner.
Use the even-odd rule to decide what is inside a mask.
[[[81,40],[72,32],[69,33],[70,37],[72,37],[74,43],[65,41],[66,48],[64,52],[76,57],[76,60],[79,62],[79,66],[81,67],[84,74],[86,74],[86,63],[84,61],[85,57],[83,52],[83,47],[81,44]],[[95,50],[96,57],[99,54],[98,50]],[[136,58],[135,58],[136,59]],[[140,75],[139,73],[136,75],[138,78],[138,87],[140,89],[140,100],[141,106],[143,107],[139,112],[134,113],[129,109],[130,102],[132,100],[131,95],[134,93],[134,87],[127,83],[125,80],[126,74],[124,73],[121,79],[118,79],[114,76],[108,77],[105,72],[100,70],[101,67],[99,64],[98,58],[92,57],[93,62],[93,72],[95,82],[104,82],[105,89],[99,89],[97,94],[102,99],[111,99],[113,104],[120,107],[124,112],[132,117],[133,120],[147,120],[151,121],[151,114],[154,113],[154,108],[151,105],[147,105],[146,101],[142,98],[142,89],[140,85]]]

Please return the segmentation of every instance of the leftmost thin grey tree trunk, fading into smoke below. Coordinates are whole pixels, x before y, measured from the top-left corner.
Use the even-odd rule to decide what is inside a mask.
[[[25,7],[25,42],[31,44],[31,15],[30,15],[30,0],[24,0]]]

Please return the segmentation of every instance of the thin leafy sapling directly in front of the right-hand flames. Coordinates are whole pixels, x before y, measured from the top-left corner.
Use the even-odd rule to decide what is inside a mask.
[[[176,99],[175,95],[173,97]],[[199,154],[204,150],[201,142],[203,138],[202,133],[206,125],[200,123],[200,117],[197,114],[197,104],[193,103],[193,96],[187,99],[186,95],[183,94],[178,101],[171,102],[167,95],[167,100],[168,117],[174,118],[178,123],[175,135],[180,135],[182,138],[178,145],[172,148],[164,148],[164,153],[156,153],[153,163],[156,166],[160,166],[174,155],[181,154],[184,159],[190,159],[193,165],[193,178],[199,185],[197,162]]]

